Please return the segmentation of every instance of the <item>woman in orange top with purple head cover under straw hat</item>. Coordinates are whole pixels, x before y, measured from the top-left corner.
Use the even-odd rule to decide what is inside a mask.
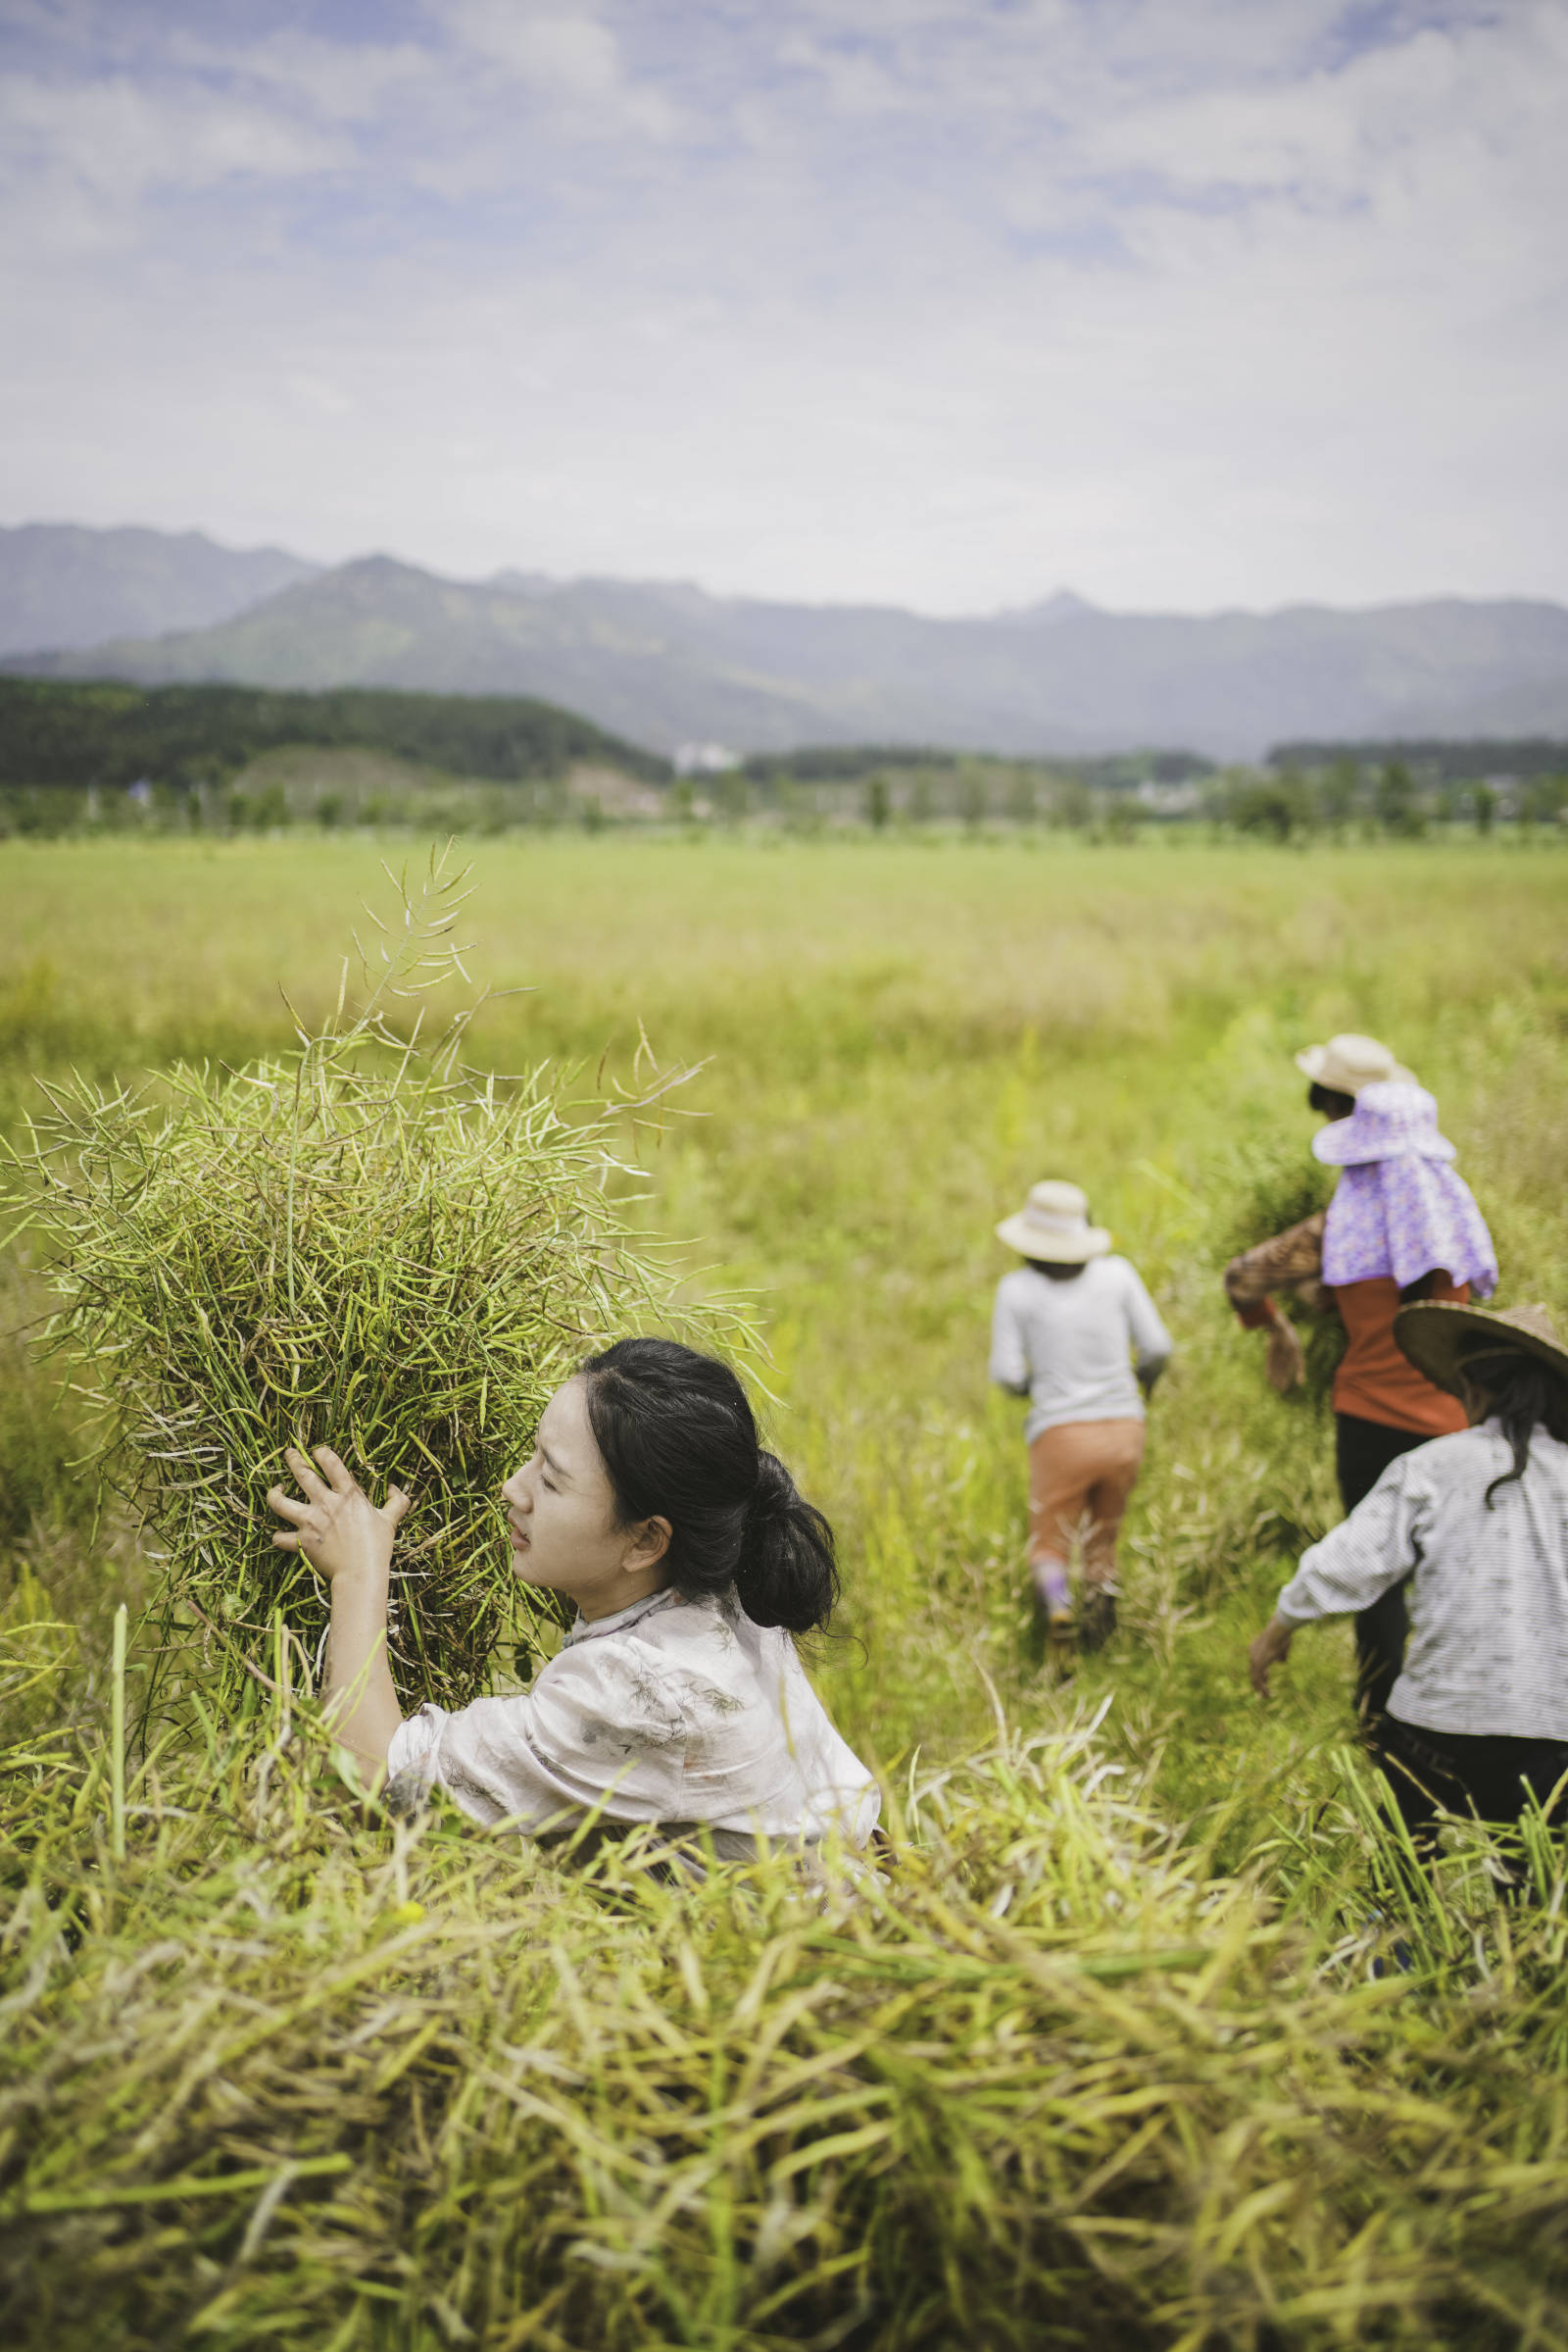
[[[1418,1298],[1462,1305],[1497,1287],[1497,1256],[1436,1103],[1375,1037],[1331,1037],[1295,1056],[1307,1101],[1331,1122],[1312,1152],[1340,1169],[1328,1209],[1225,1268],[1225,1294],[1248,1329],[1269,1334],[1267,1374],[1281,1395],[1302,1376],[1295,1329],[1269,1296],[1295,1289],[1338,1310],[1345,1355],[1333,1378],[1340,1503],[1354,1510],[1410,1446],[1465,1428],[1465,1414],[1394,1341],[1394,1317]],[[1356,1708],[1378,1740],[1406,1639],[1403,1590],[1356,1616]]]

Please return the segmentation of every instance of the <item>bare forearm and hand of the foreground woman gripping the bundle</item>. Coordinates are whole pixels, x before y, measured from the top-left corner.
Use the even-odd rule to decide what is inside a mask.
[[[315,1573],[331,1585],[322,1705],[343,1748],[371,1771],[381,1771],[402,1722],[386,1661],[386,1609],[393,1536],[409,1496],[400,1486],[388,1486],[386,1503],[376,1510],[329,1446],[315,1446],[315,1463],[289,1446],[284,1461],[299,1479],[303,1501],[273,1486],[268,1503],[289,1522],[273,1543],[280,1552],[303,1552]]]

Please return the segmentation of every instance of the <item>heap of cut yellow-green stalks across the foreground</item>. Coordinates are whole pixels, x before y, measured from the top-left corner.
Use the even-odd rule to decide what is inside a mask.
[[[120,1804],[0,1757],[7,2345],[1563,2352],[1549,1842],[1434,1893],[1352,1778],[1215,1875],[1081,1712],[693,1882],[367,1816],[284,1653]]]

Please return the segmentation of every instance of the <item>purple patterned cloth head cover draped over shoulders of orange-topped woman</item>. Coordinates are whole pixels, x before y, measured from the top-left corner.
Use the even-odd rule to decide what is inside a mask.
[[[1425,1087],[1382,1080],[1363,1087],[1349,1120],[1319,1129],[1312,1150],[1342,1169],[1324,1225],[1324,1282],[1378,1282],[1401,1289],[1422,1275],[1469,1282],[1479,1298],[1497,1289],[1497,1254],[1476,1197],[1450,1167],[1448,1136]]]

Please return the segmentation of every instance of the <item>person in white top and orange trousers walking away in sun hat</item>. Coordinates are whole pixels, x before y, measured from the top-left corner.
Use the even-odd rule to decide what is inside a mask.
[[[1098,1649],[1117,1625],[1117,1531],[1143,1465],[1143,1399],[1171,1362],[1171,1334],[1074,1183],[1037,1183],[997,1240],[1025,1258],[997,1284],[990,1376],[1030,1399],[1030,1573],[1051,1635],[1067,1635],[1067,1564],[1081,1538],[1079,1642]]]

